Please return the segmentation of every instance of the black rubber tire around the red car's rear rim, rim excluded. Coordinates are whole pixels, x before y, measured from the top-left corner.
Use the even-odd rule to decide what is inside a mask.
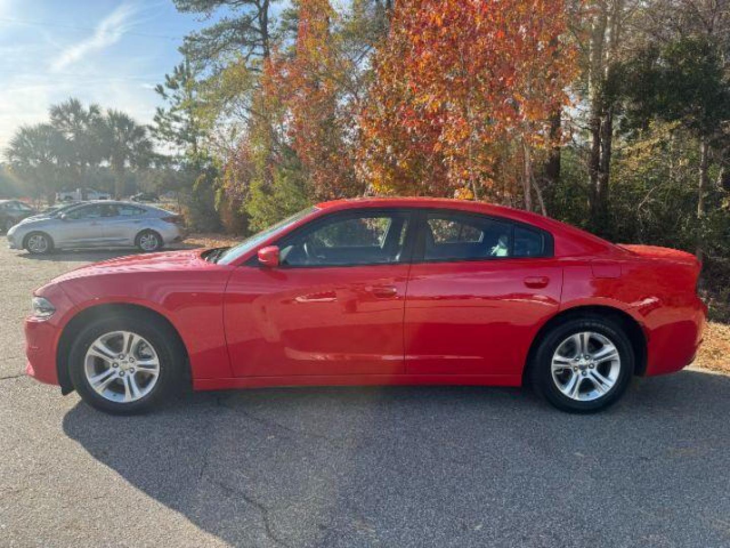
[[[558,346],[561,346],[572,335],[581,332],[593,332],[607,338],[615,346],[620,358],[620,370],[613,386],[604,395],[585,401],[573,399],[561,392],[553,379],[552,368],[553,356]],[[602,316],[580,316],[566,320],[542,335],[529,366],[529,380],[538,394],[545,397],[556,408],[571,413],[595,413],[611,406],[626,392],[631,377],[634,375],[635,363],[634,348],[621,328],[621,324]],[[599,365],[599,367],[606,366]],[[598,369],[596,368],[596,370]],[[570,371],[560,374],[573,375]],[[583,371],[579,369],[577,374],[582,375]],[[586,374],[590,375],[589,372]],[[578,384],[580,383],[583,383],[581,386],[585,387],[585,381],[578,381]],[[592,384],[592,381],[588,383],[588,389]],[[578,389],[580,390],[580,387]]]

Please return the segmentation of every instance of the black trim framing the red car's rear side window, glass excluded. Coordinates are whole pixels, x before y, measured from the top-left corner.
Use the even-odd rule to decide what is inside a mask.
[[[485,213],[478,213],[476,211],[458,210],[449,208],[418,208],[418,215],[415,218],[414,225],[417,227],[417,241],[412,252],[411,262],[414,265],[431,263],[431,262],[475,262],[475,261],[523,261],[525,259],[552,259],[555,256],[555,240],[553,235],[545,229],[540,229],[525,223],[522,221],[516,221],[515,219],[500,217],[494,215],[488,215]],[[482,256],[482,257],[464,257],[461,259],[455,259],[447,257],[445,259],[426,259],[426,223],[428,222],[429,215],[445,215],[445,216],[467,216],[475,217],[479,219],[488,219],[490,221],[496,221],[510,225],[510,243],[507,246],[508,254],[504,257],[499,256]],[[544,251],[542,254],[535,256],[512,256],[513,246],[515,243],[515,227],[526,229],[530,232],[535,232],[542,235],[545,245],[543,246]]]

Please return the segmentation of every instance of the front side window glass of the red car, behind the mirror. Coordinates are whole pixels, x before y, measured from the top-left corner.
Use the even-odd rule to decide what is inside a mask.
[[[347,213],[282,242],[284,266],[353,266],[399,262],[408,227],[407,213]]]

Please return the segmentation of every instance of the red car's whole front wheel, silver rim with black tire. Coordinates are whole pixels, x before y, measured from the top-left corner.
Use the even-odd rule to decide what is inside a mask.
[[[74,388],[86,403],[108,413],[148,411],[180,379],[175,340],[171,327],[142,314],[94,321],[72,343]]]

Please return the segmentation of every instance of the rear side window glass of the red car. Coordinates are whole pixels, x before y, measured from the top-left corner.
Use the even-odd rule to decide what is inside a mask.
[[[552,254],[552,239],[526,224],[475,213],[431,211],[423,226],[423,260],[468,261]]]

